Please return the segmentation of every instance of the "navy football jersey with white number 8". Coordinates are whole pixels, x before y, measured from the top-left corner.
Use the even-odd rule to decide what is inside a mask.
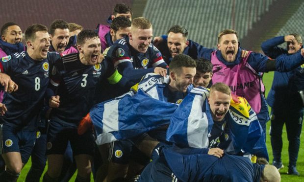
[[[47,59],[36,61],[25,51],[1,59],[1,72],[8,74],[19,86],[18,91],[4,94],[7,112],[0,117],[1,124],[23,130],[36,129],[49,85],[49,70],[59,59],[58,53],[48,52]]]

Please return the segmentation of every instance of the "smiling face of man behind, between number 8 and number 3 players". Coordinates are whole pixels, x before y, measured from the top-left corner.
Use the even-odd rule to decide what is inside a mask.
[[[56,28],[54,35],[51,35],[51,44],[56,52],[62,53],[69,43],[70,31],[68,28]]]

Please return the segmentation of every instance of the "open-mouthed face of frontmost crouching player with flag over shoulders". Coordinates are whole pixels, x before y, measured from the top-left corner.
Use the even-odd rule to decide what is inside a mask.
[[[230,95],[220,91],[210,91],[208,103],[213,121],[222,121],[230,106]]]

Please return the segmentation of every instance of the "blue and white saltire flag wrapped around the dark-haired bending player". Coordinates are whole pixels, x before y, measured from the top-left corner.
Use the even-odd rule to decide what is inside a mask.
[[[168,82],[169,78],[149,73],[134,90],[95,105],[90,117],[97,134],[96,143],[136,137],[169,124],[178,105],[166,102],[163,89]]]

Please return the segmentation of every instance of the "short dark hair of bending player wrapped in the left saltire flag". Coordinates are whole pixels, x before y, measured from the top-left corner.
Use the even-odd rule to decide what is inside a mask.
[[[180,69],[182,67],[185,67],[185,68],[195,68],[196,67],[196,63],[195,63],[194,59],[192,59],[188,55],[177,54],[176,56],[174,56],[174,58],[170,62],[169,70],[170,71],[174,71],[177,74],[179,74],[180,73]]]

